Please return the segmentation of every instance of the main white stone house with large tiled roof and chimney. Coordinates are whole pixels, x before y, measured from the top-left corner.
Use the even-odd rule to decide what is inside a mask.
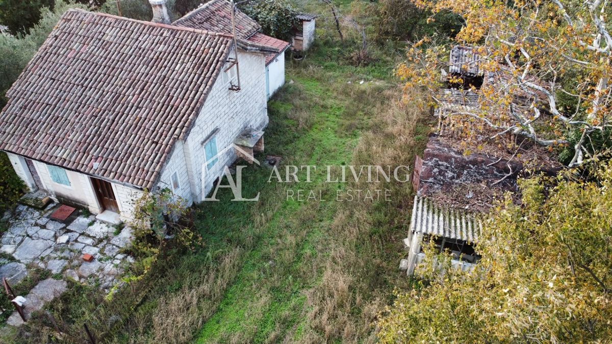
[[[150,2],[155,22],[68,10],[7,92],[0,150],[29,189],[122,220],[145,189],[198,202],[236,159],[226,148],[266,127],[280,50],[164,24]]]

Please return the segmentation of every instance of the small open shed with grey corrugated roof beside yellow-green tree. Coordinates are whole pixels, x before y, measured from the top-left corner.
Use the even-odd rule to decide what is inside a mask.
[[[481,231],[479,215],[460,209],[445,209],[424,196],[414,196],[410,230],[404,239],[408,248],[406,274],[414,274],[416,266],[425,258],[423,245],[430,241],[438,252],[452,255],[453,267],[471,271],[473,264],[480,259],[475,244]]]

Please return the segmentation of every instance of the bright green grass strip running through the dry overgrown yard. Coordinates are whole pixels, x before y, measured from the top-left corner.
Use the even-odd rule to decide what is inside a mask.
[[[289,75],[289,78],[292,78]],[[357,143],[357,133],[345,135],[340,132],[346,99],[332,97],[321,99],[324,94],[333,94],[330,84],[304,77],[293,77],[291,95],[300,93],[300,99],[319,99],[313,106],[312,127],[297,130],[290,116],[294,109],[291,102],[271,102],[271,126],[266,136],[266,151],[282,152],[283,164],[294,165],[339,165],[351,160]],[[281,97],[283,98],[283,97]],[[312,104],[312,103],[311,103]],[[291,135],[295,141],[287,144],[277,140],[278,136]],[[285,142],[283,142],[285,141]],[[283,146],[279,146],[282,144]],[[304,173],[298,174],[301,178]],[[283,190],[314,190],[328,201],[287,200],[286,193],[277,193],[274,201],[282,204],[274,218],[266,224],[263,236],[245,258],[244,265],[220,303],[217,312],[204,325],[198,342],[222,341],[231,337],[263,342],[272,332],[284,335],[298,322],[304,307],[306,290],[319,279],[317,271],[303,271],[305,266],[324,252],[317,252],[316,241],[324,240],[326,228],[334,218],[338,203],[329,201],[334,196],[336,185],[324,182],[324,173],[313,173],[313,182],[297,182],[283,185]],[[269,186],[269,185],[266,185]],[[208,239],[204,237],[204,239]],[[282,326],[280,326],[282,324]],[[280,328],[279,328],[280,327]]]

